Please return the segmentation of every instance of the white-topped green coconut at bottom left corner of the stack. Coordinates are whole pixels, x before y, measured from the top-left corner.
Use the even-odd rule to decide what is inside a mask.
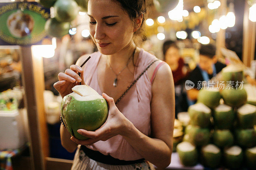
[[[177,152],[180,162],[184,166],[194,166],[197,164],[197,150],[194,145],[189,142],[181,142],[177,145]]]

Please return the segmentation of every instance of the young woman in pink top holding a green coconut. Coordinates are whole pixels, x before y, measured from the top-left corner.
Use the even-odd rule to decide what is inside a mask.
[[[89,55],[59,73],[54,87],[64,97],[78,82],[86,83],[106,99],[109,113],[95,132],[77,131],[87,140],[71,137],[61,125],[62,146],[69,152],[78,146],[72,169],[154,169],[152,164],[161,169],[170,164],[174,83],[169,65],[134,42],[143,30],[145,13],[145,0],[88,1],[90,35],[99,51],[90,54],[83,68],[79,65]]]

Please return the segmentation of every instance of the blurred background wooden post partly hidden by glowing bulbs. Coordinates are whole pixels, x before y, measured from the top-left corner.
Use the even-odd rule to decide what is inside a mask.
[[[220,7],[219,7],[219,16],[226,15],[226,12],[223,13],[223,11],[226,11],[227,8],[227,0],[220,0]],[[216,55],[218,58],[222,57],[221,54],[221,48],[225,48],[225,39],[226,39],[226,30],[220,29],[220,31],[217,33],[216,38]]]

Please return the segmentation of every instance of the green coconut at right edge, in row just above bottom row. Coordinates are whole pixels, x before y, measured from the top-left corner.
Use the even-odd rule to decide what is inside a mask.
[[[236,129],[236,142],[239,146],[251,148],[256,145],[255,129]]]

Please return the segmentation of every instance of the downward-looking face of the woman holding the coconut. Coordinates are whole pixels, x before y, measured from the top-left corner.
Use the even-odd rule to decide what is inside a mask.
[[[129,16],[112,0],[89,0],[89,30],[101,54],[111,55],[128,47],[135,31]]]

